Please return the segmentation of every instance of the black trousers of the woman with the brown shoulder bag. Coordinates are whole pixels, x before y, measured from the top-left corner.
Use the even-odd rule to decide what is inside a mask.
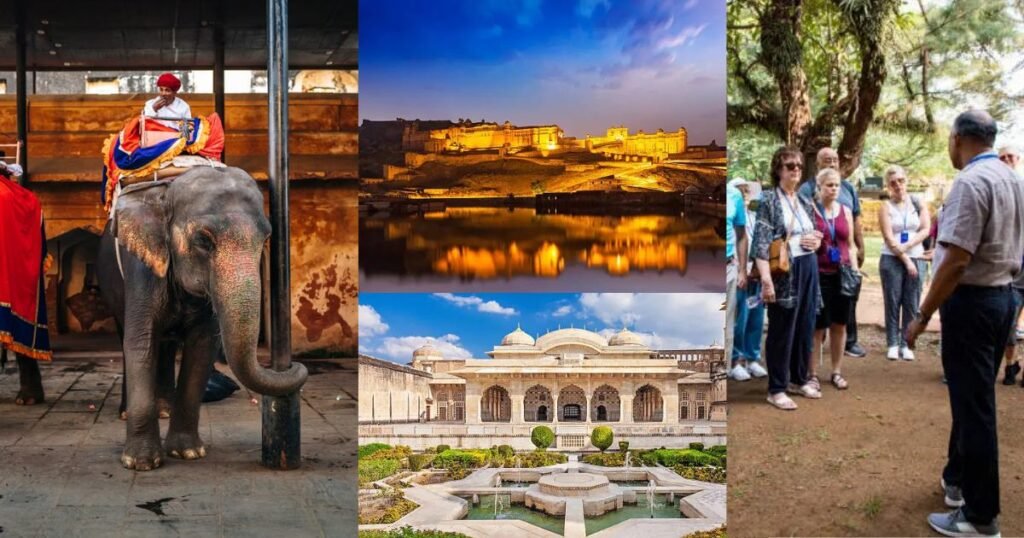
[[[814,346],[818,307],[818,260],[814,254],[795,258],[790,277],[796,287],[796,304],[792,308],[774,302],[768,304],[765,362],[771,395],[784,392],[791,382],[801,385],[807,382],[808,361]]]

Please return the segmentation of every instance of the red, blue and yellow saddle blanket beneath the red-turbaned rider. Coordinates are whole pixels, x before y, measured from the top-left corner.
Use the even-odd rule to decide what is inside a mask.
[[[141,125],[144,121],[145,124]],[[185,122],[182,122],[185,123]],[[211,114],[206,118],[187,120],[184,132],[168,127],[160,121],[142,119],[139,116],[128,120],[118,134],[112,134],[103,142],[103,192],[101,200],[109,212],[114,202],[114,192],[123,177],[147,177],[161,168],[170,165],[175,157],[187,154],[220,160],[224,151],[224,126],[220,116]],[[153,146],[143,147],[140,127],[148,133],[181,133]]]

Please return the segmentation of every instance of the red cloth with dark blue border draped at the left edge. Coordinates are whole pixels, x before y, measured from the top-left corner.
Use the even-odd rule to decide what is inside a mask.
[[[0,346],[49,361],[42,206],[36,195],[5,178],[0,178]]]

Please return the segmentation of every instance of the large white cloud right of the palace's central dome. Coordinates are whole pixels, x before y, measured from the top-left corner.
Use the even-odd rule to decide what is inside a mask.
[[[701,347],[723,343],[724,298],[721,293],[584,293],[580,308],[605,324],[605,331],[627,326],[654,348]]]

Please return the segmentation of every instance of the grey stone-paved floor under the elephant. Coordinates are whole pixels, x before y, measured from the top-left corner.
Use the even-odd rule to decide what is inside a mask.
[[[47,402],[15,406],[0,374],[0,534],[7,536],[352,536],[356,526],[356,365],[309,361],[302,467],[262,467],[260,411],[245,389],[205,404],[208,456],[124,469],[120,363],[43,366]],[[258,397],[257,397],[258,401]],[[167,420],[161,420],[166,432]]]

